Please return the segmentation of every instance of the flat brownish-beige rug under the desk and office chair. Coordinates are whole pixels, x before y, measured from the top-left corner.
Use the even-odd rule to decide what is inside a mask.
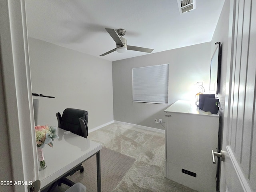
[[[100,150],[102,192],[112,192],[135,160],[135,158],[103,147]],[[86,192],[97,192],[96,155],[86,160],[82,166],[84,167],[83,173],[78,171],[67,178],[75,183],[84,184],[87,188]],[[57,186],[54,192],[64,192],[67,189],[68,186],[62,184],[60,187]]]

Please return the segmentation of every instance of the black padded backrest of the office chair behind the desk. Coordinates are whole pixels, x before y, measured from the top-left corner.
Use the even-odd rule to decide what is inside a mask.
[[[57,114],[56,114],[57,115]],[[58,118],[58,116],[57,116]],[[79,121],[83,120],[83,124]],[[67,108],[63,111],[62,118],[60,120],[60,128],[71,131],[74,134],[87,138],[88,135],[88,112],[80,109]]]

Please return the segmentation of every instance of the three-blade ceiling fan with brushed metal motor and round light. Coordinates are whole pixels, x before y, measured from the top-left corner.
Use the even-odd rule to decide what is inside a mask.
[[[116,48],[100,55],[100,56],[104,56],[107,55],[109,53],[112,53],[114,51],[117,51],[118,53],[124,53],[127,50],[134,50],[134,51],[141,51],[141,52],[146,52],[146,53],[151,53],[154,49],[148,49],[148,48],[144,48],[144,47],[136,47],[136,46],[130,46],[127,45],[127,41],[125,38],[123,38],[124,34],[125,34],[125,30],[124,29],[118,29],[117,33],[116,30],[114,29],[109,29],[109,28],[105,28],[106,31],[110,34],[110,36],[114,39],[114,41],[116,42]],[[120,37],[119,37],[119,36]]]

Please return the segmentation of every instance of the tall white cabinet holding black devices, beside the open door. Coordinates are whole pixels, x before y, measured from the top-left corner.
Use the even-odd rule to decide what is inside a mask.
[[[166,178],[199,192],[216,191],[217,165],[212,163],[212,150],[218,148],[219,116],[183,100],[165,112]]]

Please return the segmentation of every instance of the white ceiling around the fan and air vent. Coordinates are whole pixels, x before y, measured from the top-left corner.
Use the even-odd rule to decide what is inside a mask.
[[[116,48],[105,28],[124,28],[127,44],[152,53],[212,40],[224,0],[196,0],[180,14],[177,0],[25,0],[28,36],[92,56]],[[115,61],[148,53],[128,50]]]

